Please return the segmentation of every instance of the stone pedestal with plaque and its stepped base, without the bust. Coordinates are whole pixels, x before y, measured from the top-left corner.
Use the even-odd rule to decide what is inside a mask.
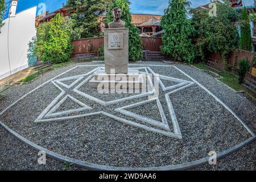
[[[104,30],[105,70],[94,73],[90,88],[130,89],[146,88],[146,75],[136,70],[128,71],[129,29],[109,28]]]

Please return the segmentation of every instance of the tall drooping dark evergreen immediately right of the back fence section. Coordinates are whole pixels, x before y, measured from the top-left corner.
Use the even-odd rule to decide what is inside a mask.
[[[191,63],[195,57],[191,35],[193,26],[187,18],[187,8],[190,2],[186,0],[172,0],[164,10],[161,19],[163,27],[163,46],[161,50],[164,54],[170,55],[175,60]]]

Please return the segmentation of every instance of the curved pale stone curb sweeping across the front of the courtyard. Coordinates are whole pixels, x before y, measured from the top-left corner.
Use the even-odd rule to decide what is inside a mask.
[[[163,166],[163,167],[147,167],[147,168],[128,168],[128,167],[112,167],[112,166],[104,166],[100,164],[93,164],[88,162],[82,162],[81,160],[68,158],[66,156],[57,154],[55,152],[52,152],[50,150],[47,150],[46,148],[40,147],[37,144],[31,142],[30,140],[27,140],[26,138],[22,137],[21,135],[15,133],[15,131],[11,130],[8,126],[6,126],[4,123],[0,121],[0,125],[6,129],[11,135],[18,138],[21,142],[26,144],[27,146],[30,146],[36,151],[44,151],[46,152],[46,155],[49,156],[49,158],[59,160],[60,162],[67,162],[72,163],[77,167],[85,168],[89,170],[97,170],[97,171],[177,171],[177,170],[185,170],[185,169],[191,169],[196,168],[198,166],[201,166],[203,164],[207,164],[209,162],[210,156],[194,160],[192,162],[183,163],[183,164],[175,164],[173,166]],[[242,147],[246,146],[247,144],[253,142],[256,139],[256,136],[250,137],[249,139],[243,141],[240,144],[237,144],[234,147],[229,148],[228,150],[222,151],[219,154],[217,154],[217,160],[222,159],[227,155],[232,154],[233,152],[236,152],[240,150]]]

